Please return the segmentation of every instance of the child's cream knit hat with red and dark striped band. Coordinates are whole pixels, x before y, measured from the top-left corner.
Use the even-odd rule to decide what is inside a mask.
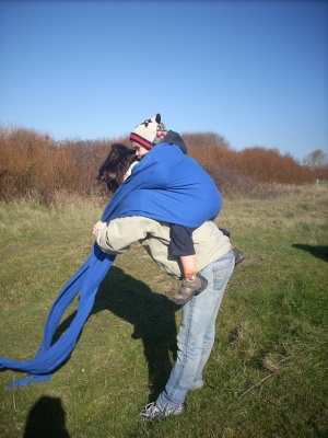
[[[165,125],[161,122],[161,114],[148,118],[130,134],[130,140],[143,146],[147,149],[152,149],[167,134]]]

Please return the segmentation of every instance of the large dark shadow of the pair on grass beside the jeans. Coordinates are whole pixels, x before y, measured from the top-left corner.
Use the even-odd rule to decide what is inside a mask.
[[[176,360],[175,312],[180,307],[167,297],[154,293],[144,283],[116,266],[110,267],[95,297],[91,314],[109,310],[133,326],[133,339],[142,339],[149,368],[150,402],[163,391],[172,364]],[[54,342],[63,334],[75,315],[77,312],[73,312],[61,322]]]

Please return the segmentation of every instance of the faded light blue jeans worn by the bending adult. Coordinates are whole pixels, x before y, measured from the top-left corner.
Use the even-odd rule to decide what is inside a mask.
[[[165,412],[184,403],[191,387],[202,385],[202,371],[207,365],[215,337],[215,320],[227,281],[234,270],[232,251],[200,270],[208,287],[183,307],[180,330],[177,335],[177,360],[164,391],[156,400]]]

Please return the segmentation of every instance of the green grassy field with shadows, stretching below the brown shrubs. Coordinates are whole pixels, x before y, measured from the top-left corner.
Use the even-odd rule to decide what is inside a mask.
[[[101,212],[78,203],[0,205],[0,356],[34,357]],[[1,438],[327,437],[328,187],[226,200],[218,224],[247,258],[221,307],[206,387],[187,395],[183,416],[138,416],[165,384],[180,310],[172,301],[178,284],[136,244],[116,258],[50,381],[8,390],[23,374],[0,372]]]

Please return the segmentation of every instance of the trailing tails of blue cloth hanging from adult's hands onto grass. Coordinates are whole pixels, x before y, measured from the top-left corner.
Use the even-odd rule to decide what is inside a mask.
[[[87,261],[56,298],[45,324],[42,344],[34,359],[17,361],[0,358],[0,369],[11,369],[27,374],[25,379],[9,383],[9,388],[49,380],[51,372],[70,356],[92,311],[98,285],[114,260],[115,256],[103,253],[95,244]],[[74,319],[59,339],[52,343],[61,318],[79,293],[79,306]]]

